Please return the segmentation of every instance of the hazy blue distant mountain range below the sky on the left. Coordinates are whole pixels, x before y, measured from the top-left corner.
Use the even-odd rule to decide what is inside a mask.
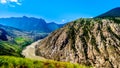
[[[47,23],[44,19],[26,16],[0,18],[0,24],[34,33],[50,33],[63,26],[56,23]]]

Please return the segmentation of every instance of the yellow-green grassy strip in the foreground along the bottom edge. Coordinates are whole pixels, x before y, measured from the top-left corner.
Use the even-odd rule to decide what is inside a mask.
[[[37,61],[12,56],[0,56],[0,68],[92,68],[69,62]]]

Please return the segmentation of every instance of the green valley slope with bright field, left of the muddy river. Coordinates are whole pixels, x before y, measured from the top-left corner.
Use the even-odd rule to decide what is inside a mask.
[[[0,41],[0,55],[22,56],[21,51],[31,42],[22,37],[16,37],[13,41]]]

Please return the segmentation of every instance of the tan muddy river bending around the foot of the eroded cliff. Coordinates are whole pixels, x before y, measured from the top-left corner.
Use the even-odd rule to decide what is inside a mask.
[[[25,58],[30,58],[30,59],[34,59],[34,60],[45,60],[45,58],[40,57],[40,56],[36,56],[35,55],[35,46],[38,45],[38,43],[41,40],[38,40],[36,42],[33,42],[32,44],[28,45],[23,51],[22,51],[22,55],[25,56]]]

